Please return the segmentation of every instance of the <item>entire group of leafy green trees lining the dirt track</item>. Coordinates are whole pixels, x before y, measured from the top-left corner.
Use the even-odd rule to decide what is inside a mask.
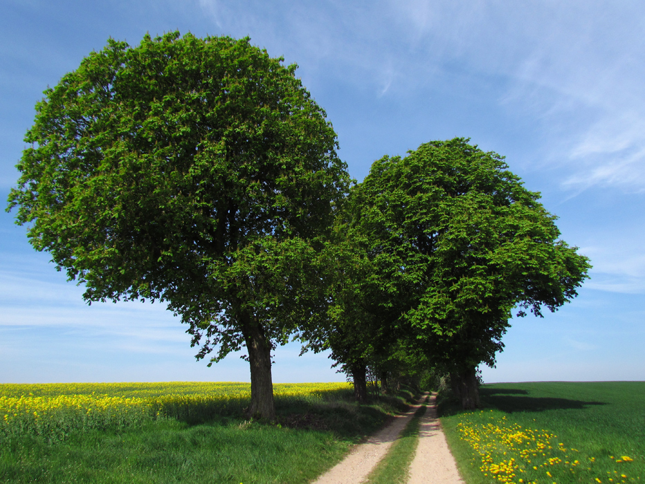
[[[423,366],[475,405],[511,310],[572,299],[588,259],[462,138],[352,183],[295,71],[248,39],[109,40],[37,104],[8,210],[89,303],[165,301],[211,363],[245,346],[252,414],[275,416],[291,339],[331,349],[358,400],[368,366]]]

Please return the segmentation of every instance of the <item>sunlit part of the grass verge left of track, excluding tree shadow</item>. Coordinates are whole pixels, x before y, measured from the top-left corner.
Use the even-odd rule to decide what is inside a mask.
[[[329,432],[167,420],[24,445],[3,458],[0,475],[7,483],[302,483],[346,448]]]

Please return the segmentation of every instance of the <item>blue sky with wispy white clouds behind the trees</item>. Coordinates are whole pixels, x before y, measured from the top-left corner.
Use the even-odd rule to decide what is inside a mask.
[[[430,140],[506,156],[594,268],[571,304],[513,322],[484,380],[645,380],[645,4],[3,0],[2,198],[47,86],[109,37],[173,30],[248,35],[296,62],[359,181]],[[0,382],[249,380],[237,355],[196,362],[160,304],[84,304],[13,215],[0,213]],[[299,349],[278,349],[274,382],[343,380]]]

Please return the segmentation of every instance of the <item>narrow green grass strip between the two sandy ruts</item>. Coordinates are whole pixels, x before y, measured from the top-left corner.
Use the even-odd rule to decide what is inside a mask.
[[[428,398],[424,399],[421,407],[410,419],[401,436],[392,444],[388,454],[374,467],[367,476],[368,484],[403,484],[408,481],[410,463],[415,456],[417,445],[419,445],[419,424],[421,417],[428,408]]]

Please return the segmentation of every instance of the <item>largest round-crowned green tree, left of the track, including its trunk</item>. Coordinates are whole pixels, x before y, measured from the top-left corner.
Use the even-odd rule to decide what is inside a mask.
[[[212,361],[246,346],[266,418],[272,349],[324,313],[321,237],[349,183],[295,71],[248,39],[109,40],[45,91],[9,196],[87,301],[166,301]]]

